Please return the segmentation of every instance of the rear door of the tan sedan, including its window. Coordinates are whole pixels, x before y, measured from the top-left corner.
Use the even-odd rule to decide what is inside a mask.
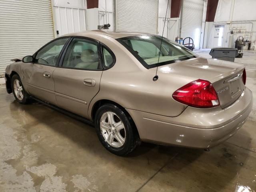
[[[87,38],[73,38],[53,72],[60,108],[88,118],[88,106],[100,90],[100,45]]]

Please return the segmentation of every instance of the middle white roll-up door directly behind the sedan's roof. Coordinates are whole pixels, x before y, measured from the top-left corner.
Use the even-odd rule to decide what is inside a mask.
[[[116,29],[157,34],[158,0],[116,0]]]

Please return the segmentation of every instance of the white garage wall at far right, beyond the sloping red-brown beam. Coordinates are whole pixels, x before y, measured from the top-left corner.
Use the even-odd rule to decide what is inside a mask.
[[[242,35],[256,44],[256,1],[255,0],[219,0],[214,22],[206,22],[204,48],[212,48],[216,26],[223,26],[222,47],[228,47],[230,30],[234,39]],[[256,48],[255,46],[253,48]]]

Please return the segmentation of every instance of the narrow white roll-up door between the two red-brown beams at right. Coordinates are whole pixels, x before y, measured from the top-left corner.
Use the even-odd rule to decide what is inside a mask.
[[[184,0],[182,9],[182,38],[191,37],[195,49],[200,47],[204,0]]]

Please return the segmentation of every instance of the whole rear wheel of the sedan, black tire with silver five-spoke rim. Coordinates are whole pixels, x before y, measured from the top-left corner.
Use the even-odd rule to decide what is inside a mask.
[[[100,142],[113,154],[125,156],[141,143],[130,116],[114,104],[101,106],[94,122]]]

